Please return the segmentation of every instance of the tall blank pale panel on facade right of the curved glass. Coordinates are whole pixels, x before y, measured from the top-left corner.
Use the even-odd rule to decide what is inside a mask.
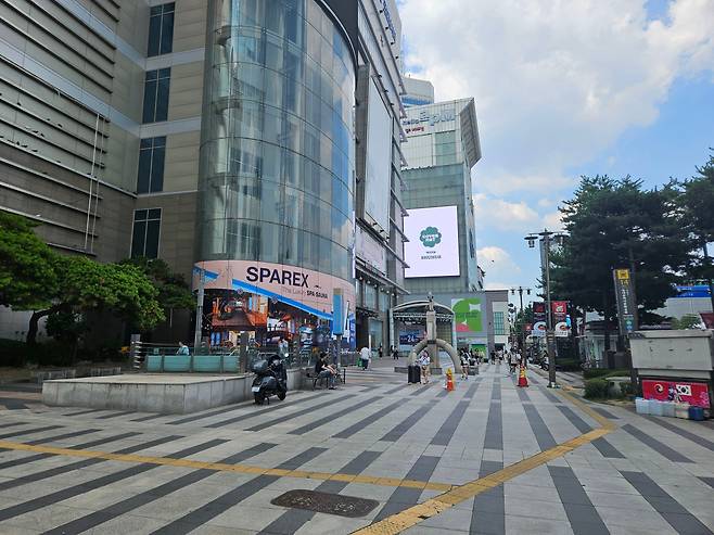
[[[392,116],[374,80],[369,81],[365,211],[382,230],[390,231],[392,180]]]

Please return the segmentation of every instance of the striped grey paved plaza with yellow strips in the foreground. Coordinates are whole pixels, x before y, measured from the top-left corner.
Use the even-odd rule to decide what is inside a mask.
[[[518,388],[505,365],[483,365],[455,392],[380,365],[337,391],[183,416],[48,408],[4,392],[0,533],[714,530],[710,423],[586,404],[533,371]],[[271,504],[294,489],[377,506],[346,518]]]

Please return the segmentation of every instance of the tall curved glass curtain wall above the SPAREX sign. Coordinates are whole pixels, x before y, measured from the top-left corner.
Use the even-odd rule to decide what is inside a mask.
[[[209,0],[199,260],[352,280],[355,69],[315,0]]]

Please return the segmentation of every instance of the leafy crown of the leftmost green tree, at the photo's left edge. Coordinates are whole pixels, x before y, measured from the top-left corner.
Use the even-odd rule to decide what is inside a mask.
[[[0,211],[0,305],[15,310],[49,306],[58,289],[56,255],[29,219]]]

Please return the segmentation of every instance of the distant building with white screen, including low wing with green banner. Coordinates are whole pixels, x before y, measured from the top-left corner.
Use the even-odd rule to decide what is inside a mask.
[[[420,93],[429,99],[424,91],[429,86],[420,82],[415,88],[412,81],[418,80],[406,80],[412,99]],[[410,303],[432,294],[452,314],[454,345],[483,354],[501,347],[508,339],[508,292],[484,291],[483,271],[476,263],[471,170],[481,158],[481,144],[474,101],[410,105],[403,126],[409,295],[400,300],[400,307],[409,309]],[[397,319],[405,317],[399,310]],[[421,336],[420,327],[408,321],[396,321],[394,329],[409,344]],[[401,344],[400,349],[408,351],[409,344]]]

